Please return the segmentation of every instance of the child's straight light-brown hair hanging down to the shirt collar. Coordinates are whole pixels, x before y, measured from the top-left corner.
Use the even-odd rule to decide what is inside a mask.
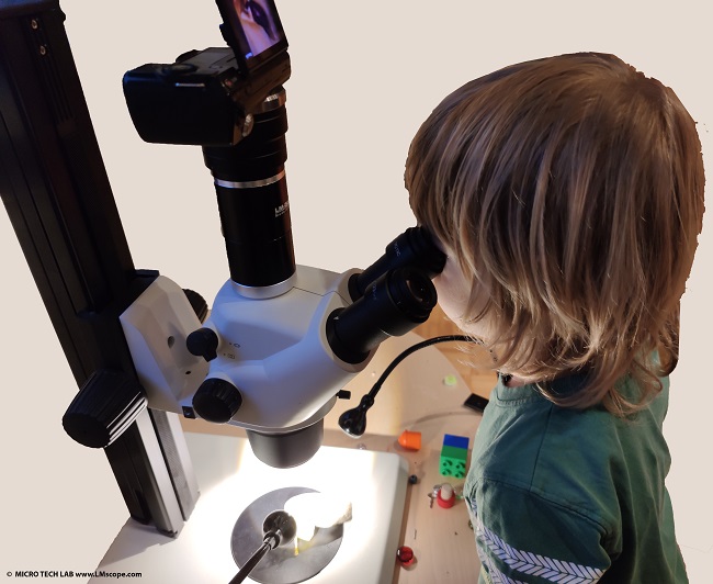
[[[501,371],[618,415],[657,393],[703,216],[701,145],[674,91],[612,55],[507,67],[438,105],[405,180],[419,223],[473,282],[465,316],[493,327]],[[575,371],[587,391],[550,391]],[[627,374],[634,400],[618,391]]]

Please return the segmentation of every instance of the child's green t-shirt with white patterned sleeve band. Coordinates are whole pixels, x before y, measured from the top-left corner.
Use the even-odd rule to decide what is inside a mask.
[[[556,383],[576,391],[581,378]],[[464,487],[482,583],[688,582],[664,485],[668,378],[661,383],[629,419],[498,383]],[[635,390],[623,384],[624,393]]]

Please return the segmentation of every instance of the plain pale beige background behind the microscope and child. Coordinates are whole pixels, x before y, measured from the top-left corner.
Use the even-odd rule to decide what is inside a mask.
[[[448,92],[512,63],[614,53],[672,87],[699,122],[703,151],[713,151],[713,46],[703,1],[278,3],[293,66],[287,182],[299,263],[364,267],[412,225],[403,172],[414,133]],[[121,78],[144,63],[222,45],[217,9],[211,0],[61,5],[136,266],[211,299],[228,272],[201,151],[142,143]],[[710,581],[703,564],[713,559],[712,221],[709,212],[683,297],[666,425],[669,490],[692,582]],[[4,212],[0,246],[0,580],[15,570],[93,570],[127,513],[104,454],[61,429],[77,388]]]

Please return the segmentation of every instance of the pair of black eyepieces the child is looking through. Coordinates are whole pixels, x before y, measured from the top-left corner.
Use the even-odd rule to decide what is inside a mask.
[[[342,361],[359,363],[387,337],[425,323],[435,306],[431,278],[445,265],[445,255],[422,227],[410,227],[386,252],[349,281],[353,304],[335,311],[327,340]]]

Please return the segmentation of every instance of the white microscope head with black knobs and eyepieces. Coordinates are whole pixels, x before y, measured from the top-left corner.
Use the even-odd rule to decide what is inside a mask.
[[[408,237],[422,243],[428,235],[416,228]],[[270,465],[312,458],[341,388],[383,340],[423,323],[435,305],[431,274],[414,266],[410,246],[399,238],[405,251],[382,258],[384,272],[367,284],[359,270],[303,266],[294,287],[271,299],[246,297],[226,282],[208,321],[188,336],[210,371],[183,412],[245,428],[256,456]]]

